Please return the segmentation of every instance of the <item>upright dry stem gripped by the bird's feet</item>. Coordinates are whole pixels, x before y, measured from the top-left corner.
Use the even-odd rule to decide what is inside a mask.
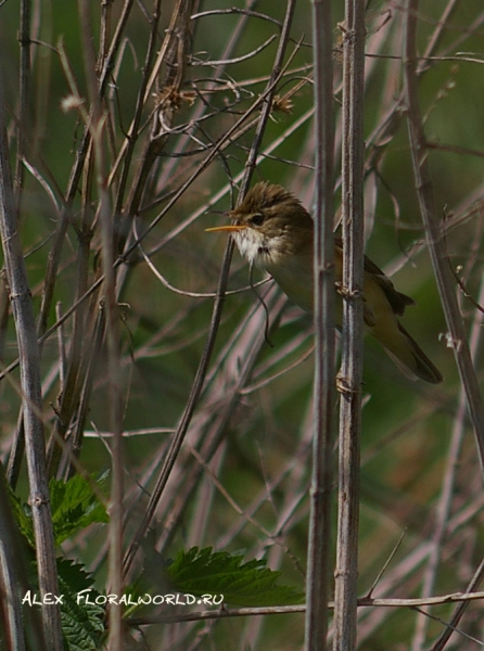
[[[343,358],[334,644],[356,646],[364,288],[365,2],[346,0],[343,38]]]

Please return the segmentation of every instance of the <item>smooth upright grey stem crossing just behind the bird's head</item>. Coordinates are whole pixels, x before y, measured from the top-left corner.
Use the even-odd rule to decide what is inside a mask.
[[[326,649],[334,412],[333,68],[331,3],[313,0],[315,60],[315,396],[305,649]]]

